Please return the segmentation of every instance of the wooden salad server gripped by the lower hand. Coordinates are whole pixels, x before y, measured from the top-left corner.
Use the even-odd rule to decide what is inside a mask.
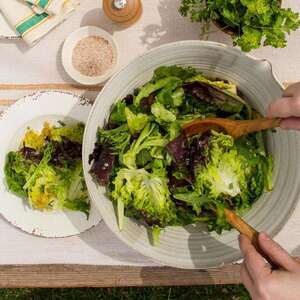
[[[250,226],[247,222],[245,222],[242,218],[240,218],[235,212],[230,209],[224,208],[224,213],[227,222],[234,227],[239,233],[247,236],[252,245],[255,247],[258,253],[260,253],[267,262],[271,265],[272,269],[278,269],[278,265],[275,264],[269,257],[266,257],[266,254],[262,251],[258,242],[259,232],[255,230],[252,226]]]

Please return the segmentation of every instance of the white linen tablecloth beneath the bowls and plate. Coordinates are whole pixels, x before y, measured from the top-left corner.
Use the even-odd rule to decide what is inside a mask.
[[[286,0],[284,3],[300,12],[299,1]],[[72,82],[62,68],[60,53],[64,39],[80,26],[100,26],[113,34],[120,49],[119,68],[147,49],[163,43],[198,39],[200,26],[179,16],[179,0],[144,0],[143,4],[142,18],[127,29],[113,24],[103,15],[102,1],[81,0],[81,7],[74,15],[33,48],[28,48],[22,41],[0,40],[0,83]],[[230,44],[230,39],[220,32],[211,33],[209,39]],[[251,54],[269,59],[281,81],[296,81],[300,80],[299,45],[300,31],[289,37],[285,49],[267,47]],[[2,99],[7,95],[0,92]],[[276,240],[294,255],[300,255],[300,205]],[[46,239],[23,233],[0,218],[0,245],[2,265],[157,265],[121,243],[103,223],[79,236]]]

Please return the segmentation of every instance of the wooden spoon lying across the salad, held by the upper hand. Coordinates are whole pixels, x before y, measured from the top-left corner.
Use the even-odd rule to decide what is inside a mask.
[[[237,139],[251,132],[276,128],[281,119],[259,118],[254,120],[230,120],[222,118],[198,119],[183,126],[187,136],[204,133],[208,130],[225,132]]]

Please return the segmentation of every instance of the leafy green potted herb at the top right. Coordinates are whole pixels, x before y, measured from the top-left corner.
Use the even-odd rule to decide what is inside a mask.
[[[286,33],[300,26],[299,14],[282,8],[280,0],[181,0],[180,13],[193,22],[216,21],[234,33],[243,51],[264,46],[283,48]]]

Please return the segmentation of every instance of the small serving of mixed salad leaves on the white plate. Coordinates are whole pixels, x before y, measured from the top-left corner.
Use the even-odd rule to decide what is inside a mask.
[[[84,125],[28,129],[21,148],[6,156],[10,191],[37,210],[69,209],[89,215],[90,203],[81,161]]]

